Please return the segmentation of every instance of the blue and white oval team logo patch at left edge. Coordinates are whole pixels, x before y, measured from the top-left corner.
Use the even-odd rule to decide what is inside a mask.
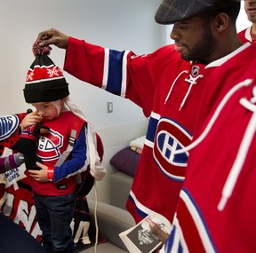
[[[19,117],[17,115],[0,117],[0,140],[9,138],[18,126]]]

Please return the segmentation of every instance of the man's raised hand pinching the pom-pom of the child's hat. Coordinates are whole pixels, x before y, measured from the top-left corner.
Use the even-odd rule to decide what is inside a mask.
[[[68,36],[54,28],[39,33],[36,41],[40,41],[39,46],[42,47],[50,44],[63,49],[67,49],[68,47]]]

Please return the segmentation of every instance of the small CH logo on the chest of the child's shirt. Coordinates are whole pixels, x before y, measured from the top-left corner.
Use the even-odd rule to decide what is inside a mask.
[[[63,146],[63,136],[56,131],[50,130],[46,137],[40,137],[38,142],[37,156],[43,161],[52,161],[60,157],[60,148]]]

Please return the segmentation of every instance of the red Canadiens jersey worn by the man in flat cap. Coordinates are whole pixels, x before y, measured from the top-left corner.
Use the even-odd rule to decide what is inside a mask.
[[[153,210],[172,222],[191,142],[198,100],[211,66],[180,58],[173,45],[148,55],[109,50],[69,37],[64,70],[140,106],[148,131],[126,208],[136,222]],[[125,113],[125,112],[124,112]]]

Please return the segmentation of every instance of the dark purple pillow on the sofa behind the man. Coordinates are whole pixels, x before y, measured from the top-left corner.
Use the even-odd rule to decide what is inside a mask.
[[[125,174],[134,177],[139,161],[140,154],[134,152],[130,146],[127,146],[110,159],[110,164],[112,164],[116,170],[123,171]]]

